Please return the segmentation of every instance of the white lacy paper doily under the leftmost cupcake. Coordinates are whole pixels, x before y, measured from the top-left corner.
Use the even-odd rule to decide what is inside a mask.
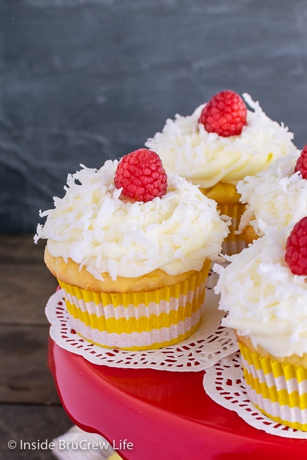
[[[55,292],[46,306],[51,324],[50,336],[62,348],[83,356],[94,364],[113,367],[150,368],[167,371],[202,371],[238,349],[231,329],[220,326],[224,312],[217,309],[218,296],[210,272],[206,288],[204,315],[199,329],[189,338],[159,350],[125,351],[99,347],[71,330],[63,291]]]

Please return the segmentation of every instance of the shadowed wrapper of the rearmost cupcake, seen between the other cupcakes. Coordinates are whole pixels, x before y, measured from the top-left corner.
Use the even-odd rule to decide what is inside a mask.
[[[246,205],[242,203],[237,204],[217,204],[218,211],[221,214],[231,217],[231,225],[229,225],[229,234],[223,242],[223,252],[231,256],[232,254],[238,254],[246,247],[246,242],[242,234],[235,234],[235,231],[239,227],[240,219],[244,211],[246,210]]]

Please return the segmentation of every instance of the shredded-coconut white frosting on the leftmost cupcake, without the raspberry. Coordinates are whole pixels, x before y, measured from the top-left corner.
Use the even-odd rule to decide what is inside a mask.
[[[124,202],[114,185],[117,164],[108,160],[99,170],[83,166],[69,175],[64,197],[54,198],[54,209],[40,212],[47,220],[38,224],[35,241],[47,238],[52,256],[85,265],[97,279],[100,272],[116,279],[156,268],[174,275],[199,270],[206,258],[218,257],[229,222],[215,201],[169,174],[162,198]]]

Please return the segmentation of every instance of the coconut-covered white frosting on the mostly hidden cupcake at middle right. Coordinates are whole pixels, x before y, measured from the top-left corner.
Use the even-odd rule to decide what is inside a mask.
[[[307,180],[294,173],[299,154],[279,158],[267,171],[238,182],[240,201],[247,203],[239,232],[250,224],[263,236],[268,226],[282,228],[307,215]]]

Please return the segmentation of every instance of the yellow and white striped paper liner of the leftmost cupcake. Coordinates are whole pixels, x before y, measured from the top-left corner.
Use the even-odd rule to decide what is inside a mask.
[[[149,292],[96,293],[58,282],[71,326],[86,340],[122,350],[157,349],[198,329],[210,264],[182,283]]]

